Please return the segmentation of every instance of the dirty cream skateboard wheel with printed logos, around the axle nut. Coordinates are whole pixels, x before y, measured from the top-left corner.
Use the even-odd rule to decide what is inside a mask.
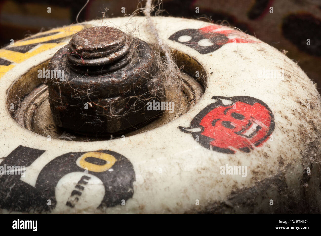
[[[91,26],[158,43],[144,17],[75,24],[0,49],[0,212],[320,213],[321,100],[307,75],[233,28],[153,21],[194,98],[112,139],[64,138],[38,69]]]

